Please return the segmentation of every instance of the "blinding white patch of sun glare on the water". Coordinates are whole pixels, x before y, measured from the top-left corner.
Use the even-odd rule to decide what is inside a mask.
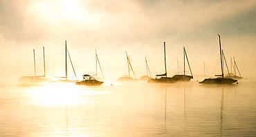
[[[30,96],[35,105],[80,105],[95,103],[90,96],[106,94],[91,87],[77,87],[73,84],[46,84],[40,88],[30,89]]]

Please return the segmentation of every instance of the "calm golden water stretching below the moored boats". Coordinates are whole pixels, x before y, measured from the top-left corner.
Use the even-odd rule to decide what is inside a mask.
[[[256,83],[0,87],[0,136],[255,136]]]

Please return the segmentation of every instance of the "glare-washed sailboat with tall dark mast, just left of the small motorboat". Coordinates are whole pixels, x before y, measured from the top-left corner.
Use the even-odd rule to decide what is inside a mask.
[[[66,55],[68,54],[68,57],[71,61],[71,57],[69,55],[69,52],[68,52],[68,48],[66,47],[66,41],[65,41],[65,59],[66,59]],[[65,60],[66,61],[66,60]],[[66,65],[66,76],[54,76],[55,78],[65,78],[65,79],[59,79],[58,81],[49,81],[48,83],[75,83],[77,82],[78,80],[75,80],[75,81],[72,81],[72,80],[68,80],[68,65],[67,65],[67,61],[65,63]],[[71,65],[73,67],[73,63],[71,61]],[[73,72],[75,74],[75,70],[74,70],[74,67],[73,67]],[[77,76],[75,74],[75,78],[77,79]]]

